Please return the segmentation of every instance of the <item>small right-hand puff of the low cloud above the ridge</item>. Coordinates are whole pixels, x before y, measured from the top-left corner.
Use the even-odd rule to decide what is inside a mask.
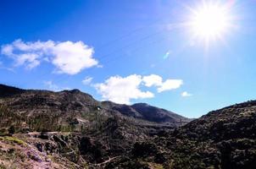
[[[156,74],[151,74],[143,77],[143,82],[147,87],[156,86],[159,93],[165,90],[175,90],[183,84],[182,79],[166,79],[163,82],[162,77]]]

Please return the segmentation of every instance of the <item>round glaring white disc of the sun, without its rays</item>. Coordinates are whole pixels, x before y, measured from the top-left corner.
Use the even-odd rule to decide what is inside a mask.
[[[222,39],[231,25],[230,8],[219,3],[203,3],[192,10],[190,27],[195,37],[209,43]]]

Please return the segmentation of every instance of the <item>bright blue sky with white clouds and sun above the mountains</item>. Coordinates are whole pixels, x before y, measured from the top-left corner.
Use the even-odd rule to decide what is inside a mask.
[[[185,117],[255,100],[256,1],[205,3],[2,0],[0,83]]]

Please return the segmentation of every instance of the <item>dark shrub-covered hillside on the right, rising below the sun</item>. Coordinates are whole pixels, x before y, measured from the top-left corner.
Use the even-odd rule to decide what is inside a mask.
[[[129,157],[131,160],[111,165],[150,168],[157,163],[158,167],[175,169],[256,168],[256,101],[209,112],[181,128],[136,143]]]

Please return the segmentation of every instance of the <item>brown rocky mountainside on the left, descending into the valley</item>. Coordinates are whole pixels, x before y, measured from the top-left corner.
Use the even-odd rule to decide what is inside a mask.
[[[0,135],[14,134],[15,139],[8,138],[14,140],[25,137],[18,142],[33,144],[40,153],[54,153],[54,158],[79,167],[123,155],[137,141],[191,121],[145,103],[128,106],[96,101],[80,90],[21,90],[7,85],[0,85],[0,117]],[[46,158],[42,154],[39,159]],[[19,165],[15,167],[25,167]],[[60,160],[56,165],[64,168]]]

